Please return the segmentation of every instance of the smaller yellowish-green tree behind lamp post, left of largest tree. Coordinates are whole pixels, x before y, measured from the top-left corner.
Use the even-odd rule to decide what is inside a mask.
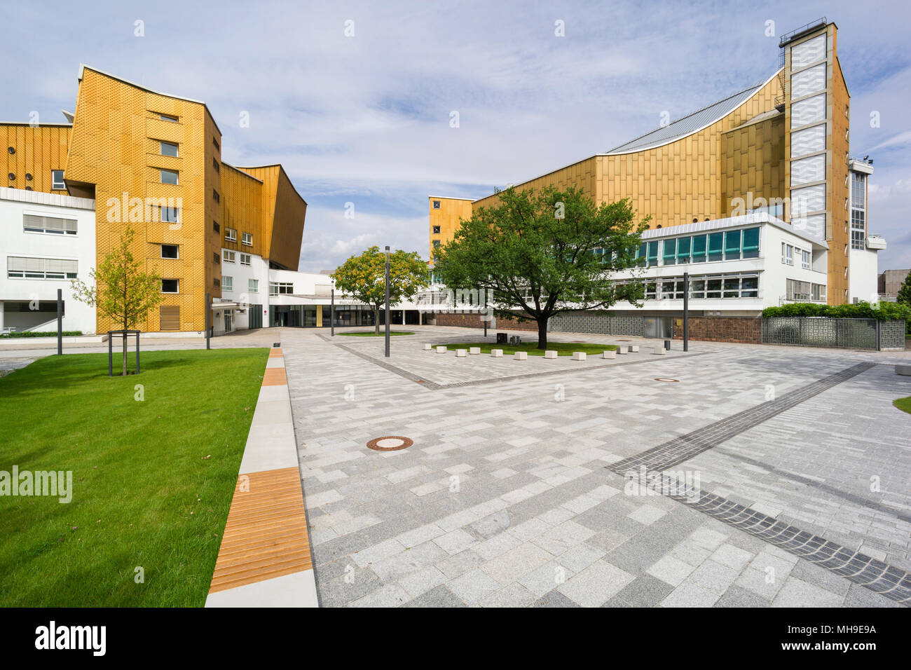
[[[380,332],[380,310],[386,300],[386,254],[376,245],[352,256],[330,274],[335,287],[374,308],[375,332]],[[427,263],[417,252],[401,249],[389,254],[389,304],[411,300],[427,285]]]

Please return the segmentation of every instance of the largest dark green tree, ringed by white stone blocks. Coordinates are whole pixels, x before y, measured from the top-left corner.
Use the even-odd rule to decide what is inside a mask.
[[[640,306],[640,282],[610,274],[636,264],[648,218],[636,222],[629,200],[596,206],[583,191],[499,191],[435,253],[435,272],[454,290],[485,291],[494,314],[537,322],[537,348],[548,346],[548,319],[567,310]]]

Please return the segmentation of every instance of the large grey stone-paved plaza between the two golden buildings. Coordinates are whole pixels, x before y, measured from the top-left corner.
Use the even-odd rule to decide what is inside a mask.
[[[906,354],[553,334],[640,351],[456,358],[423,344],[479,331],[413,329],[390,358],[281,332],[322,606],[908,604]]]

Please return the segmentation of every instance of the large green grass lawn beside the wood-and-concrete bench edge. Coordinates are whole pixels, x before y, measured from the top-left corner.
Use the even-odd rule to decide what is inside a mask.
[[[0,605],[205,603],[268,351],[149,351],[126,377],[47,356],[0,378],[0,470],[73,473],[69,503],[0,496]]]

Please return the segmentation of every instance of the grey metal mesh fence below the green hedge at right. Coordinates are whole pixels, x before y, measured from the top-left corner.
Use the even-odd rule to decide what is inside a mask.
[[[774,316],[763,319],[763,344],[833,346],[845,349],[898,348],[893,331],[902,333],[904,321],[836,319],[826,316]]]

